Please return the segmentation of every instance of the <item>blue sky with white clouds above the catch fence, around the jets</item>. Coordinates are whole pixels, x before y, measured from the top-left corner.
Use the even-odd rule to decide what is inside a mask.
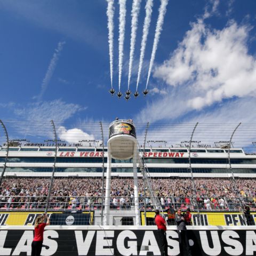
[[[134,93],[146,0],[141,1]],[[255,123],[256,1],[169,0],[145,90],[160,0],[154,0],[140,96],[111,97],[107,2],[0,0],[0,119]],[[126,2],[121,91],[127,90],[132,0]],[[118,91],[115,0],[113,86]]]

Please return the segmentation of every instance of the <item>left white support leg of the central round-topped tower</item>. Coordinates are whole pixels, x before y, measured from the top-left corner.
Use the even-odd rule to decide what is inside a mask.
[[[109,147],[108,147],[109,149]],[[111,154],[108,150],[107,174],[106,174],[106,192],[105,192],[105,211],[104,225],[109,225],[109,206],[110,206],[110,184],[111,183]]]

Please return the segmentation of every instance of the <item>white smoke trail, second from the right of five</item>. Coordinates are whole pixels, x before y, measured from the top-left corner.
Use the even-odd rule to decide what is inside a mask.
[[[149,27],[150,27],[152,7],[153,7],[153,0],[148,0],[147,3],[146,3],[146,6],[145,6],[146,17],[145,17],[144,24],[143,24],[143,35],[142,35],[141,46],[140,46],[140,62],[139,62],[139,70],[138,70],[136,91],[138,91],[138,85],[139,85],[139,81],[140,81],[142,63],[143,63],[145,50],[146,50],[146,45],[147,45],[148,30],[149,30]]]

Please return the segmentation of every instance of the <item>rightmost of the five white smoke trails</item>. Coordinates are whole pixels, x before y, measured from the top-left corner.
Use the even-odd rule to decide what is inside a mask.
[[[148,78],[147,78],[146,89],[148,87],[149,77],[150,77],[151,70],[152,70],[152,67],[153,67],[153,63],[154,63],[154,60],[155,60],[157,45],[158,45],[159,37],[161,35],[161,31],[162,31],[162,28],[163,28],[164,15],[166,13],[166,6],[168,4],[168,1],[169,0],[161,0],[161,5],[159,7],[159,14],[158,14],[158,19],[157,19],[157,23],[156,23],[156,31],[155,31],[154,44],[153,44],[153,49],[152,49],[151,58],[150,58],[150,62],[149,62],[149,69],[148,69]]]

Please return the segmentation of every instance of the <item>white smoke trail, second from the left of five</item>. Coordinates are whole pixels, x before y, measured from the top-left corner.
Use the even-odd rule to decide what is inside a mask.
[[[126,15],[126,0],[119,0],[119,77],[118,77],[118,86],[119,91],[121,87],[121,77],[122,77],[122,68],[123,68],[123,56],[124,56],[124,33],[125,33],[125,15]]]

